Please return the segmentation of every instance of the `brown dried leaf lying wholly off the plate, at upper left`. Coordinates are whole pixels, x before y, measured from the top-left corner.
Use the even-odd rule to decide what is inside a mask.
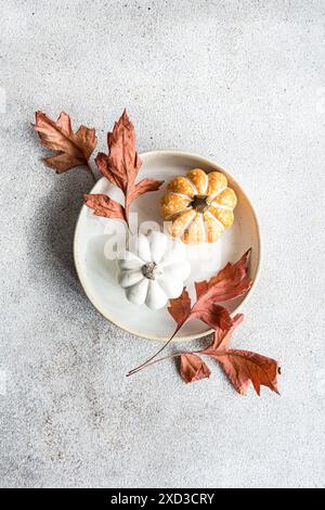
[[[41,144],[60,153],[46,157],[47,166],[63,174],[76,166],[88,165],[98,142],[94,129],[80,126],[74,132],[70,117],[65,112],[61,113],[56,122],[42,112],[36,112],[36,123],[32,126],[39,133]]]

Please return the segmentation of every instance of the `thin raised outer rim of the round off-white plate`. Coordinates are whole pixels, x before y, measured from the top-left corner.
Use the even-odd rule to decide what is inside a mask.
[[[242,310],[243,306],[244,306],[244,303],[247,303],[248,298],[251,296],[252,294],[252,291],[253,289],[256,289],[257,284],[258,284],[258,281],[259,281],[259,278],[260,278],[260,270],[261,270],[261,262],[262,262],[262,240],[261,240],[261,227],[260,227],[260,222],[259,222],[259,219],[258,219],[258,215],[256,213],[256,207],[252,205],[251,201],[249,200],[249,197],[247,196],[247,194],[245,193],[245,191],[243,190],[242,186],[238,183],[237,179],[235,177],[233,177],[233,175],[229,174],[229,171],[226,171],[222,166],[220,166],[217,162],[214,162],[213,160],[210,160],[208,157],[204,157],[204,156],[200,156],[199,154],[196,154],[196,153],[193,153],[193,152],[187,152],[187,151],[178,151],[178,150],[169,150],[169,149],[160,149],[160,150],[156,150],[156,151],[146,151],[146,152],[142,152],[141,154],[139,154],[140,158],[145,158],[145,157],[155,157],[155,156],[159,156],[159,155],[178,155],[178,156],[184,156],[184,157],[193,157],[197,161],[200,161],[203,164],[205,165],[210,165],[210,166],[214,166],[217,167],[218,169],[220,169],[220,171],[222,171],[226,177],[231,177],[231,179],[233,179],[237,187],[240,189],[240,192],[243,193],[243,195],[245,196],[245,199],[247,200],[251,211],[252,211],[252,215],[253,215],[253,218],[255,218],[255,221],[256,221],[256,226],[257,226],[257,235],[258,235],[258,246],[259,246],[259,257],[258,257],[258,262],[257,262],[257,269],[256,269],[256,277],[255,277],[255,280],[249,289],[249,291],[245,294],[242,303],[237,306],[237,308],[232,313],[232,315],[234,314],[238,314],[239,310]],[[89,193],[92,193],[93,189],[98,186],[98,183],[102,180],[102,179],[105,179],[105,177],[101,177],[95,183],[94,186],[91,188],[91,190],[89,191]],[[81,214],[82,212],[86,209],[86,204],[82,204],[81,208],[80,208],[80,212],[78,214],[78,218],[77,218],[77,221],[76,221],[76,226],[75,226],[75,233],[74,233],[74,247],[73,247],[73,252],[74,252],[74,262],[75,262],[75,267],[76,267],[76,271],[77,271],[77,275],[78,275],[78,278],[79,278],[79,281],[81,283],[81,286],[84,291],[84,294],[87,295],[88,299],[90,301],[90,303],[94,306],[94,308],[96,308],[96,310],[106,319],[108,320],[109,322],[112,322],[113,324],[117,326],[118,328],[120,328],[121,330],[130,333],[130,334],[133,334],[135,336],[139,336],[141,339],[145,339],[145,340],[154,340],[154,341],[158,341],[158,342],[166,342],[167,340],[169,340],[169,336],[156,336],[154,334],[144,334],[143,332],[141,331],[136,331],[136,330],[131,330],[129,328],[127,328],[125,324],[121,324],[119,323],[118,321],[116,321],[113,317],[108,316],[101,307],[101,305],[96,302],[96,298],[91,294],[91,292],[89,291],[89,289],[87,289],[87,284],[86,284],[86,281],[82,277],[82,271],[81,271],[81,263],[79,260],[79,256],[78,256],[78,250],[77,250],[77,244],[78,244],[78,235],[79,235],[79,229],[80,229],[80,218],[81,218]],[[203,333],[198,333],[198,334],[192,334],[192,335],[185,335],[185,336],[177,336],[176,339],[173,339],[172,342],[190,342],[190,341],[193,341],[193,340],[199,340],[199,339],[203,339],[205,336],[208,336],[209,334],[211,334],[213,332],[212,329],[208,330],[208,331],[205,331]]]

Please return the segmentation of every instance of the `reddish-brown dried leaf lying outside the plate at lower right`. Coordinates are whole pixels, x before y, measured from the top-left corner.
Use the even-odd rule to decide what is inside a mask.
[[[277,361],[249,350],[229,348],[230,340],[235,328],[243,321],[244,316],[237,315],[233,319],[233,327],[224,332],[218,329],[213,343],[207,349],[200,350],[214,358],[222,367],[224,373],[242,395],[247,395],[250,383],[260,395],[261,386],[268,386],[275,393],[277,391]]]

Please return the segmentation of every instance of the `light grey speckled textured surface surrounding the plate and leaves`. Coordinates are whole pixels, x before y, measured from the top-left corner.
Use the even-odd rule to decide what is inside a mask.
[[[0,0],[2,486],[322,486],[325,2]],[[234,345],[281,361],[282,397],[171,362],[86,298],[72,239],[87,171],[40,163],[35,110],[96,126],[127,106],[139,150],[229,168],[264,259]]]

